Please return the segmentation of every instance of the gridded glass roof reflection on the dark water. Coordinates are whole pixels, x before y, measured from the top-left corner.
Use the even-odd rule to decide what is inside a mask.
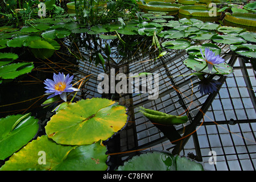
[[[115,68],[116,72],[126,75],[159,73],[158,99],[148,100],[147,93],[123,94],[119,99],[119,103],[128,108],[130,118],[126,127],[113,137],[115,142],[109,140],[109,146],[114,145],[113,149],[109,147],[110,154],[123,152],[111,156],[115,163],[137,155],[136,151],[160,150],[189,155],[191,158],[194,155],[209,170],[255,170],[255,71],[241,58],[230,55],[228,46],[217,46],[221,47],[222,53],[226,53],[224,59],[233,65],[234,73],[217,76],[216,79],[223,84],[219,92],[209,95],[202,96],[195,84],[198,78],[189,76],[192,72],[183,64],[187,57],[185,51],[168,50],[168,55],[155,63],[144,61],[148,57],[143,57],[139,61]],[[103,73],[103,69],[88,62],[81,62],[79,69],[81,78],[94,75],[86,82],[87,98],[101,97],[97,92],[100,82],[97,75]],[[138,106],[172,115],[184,114],[188,110],[189,122],[175,126],[181,137],[187,137],[184,137],[182,143],[172,144],[158,127],[138,112]],[[209,164],[210,151],[216,152],[216,165]]]

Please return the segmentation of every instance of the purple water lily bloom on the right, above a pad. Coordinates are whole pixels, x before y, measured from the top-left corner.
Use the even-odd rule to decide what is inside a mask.
[[[210,51],[209,48],[205,48],[204,54],[201,49],[200,49],[200,52],[201,52],[201,55],[203,56],[203,59],[195,58],[195,60],[206,61],[207,67],[208,67],[210,73],[212,73],[212,68],[214,66],[218,67],[216,64],[225,63],[225,60],[222,57],[220,57],[219,55],[215,56],[215,53]],[[220,67],[220,68],[222,68],[222,67]]]

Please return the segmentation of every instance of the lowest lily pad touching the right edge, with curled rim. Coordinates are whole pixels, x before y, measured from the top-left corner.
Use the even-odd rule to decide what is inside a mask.
[[[230,49],[232,51],[235,51],[236,53],[239,53],[243,56],[247,57],[256,57],[256,45],[254,44],[238,44],[238,45],[231,45]]]

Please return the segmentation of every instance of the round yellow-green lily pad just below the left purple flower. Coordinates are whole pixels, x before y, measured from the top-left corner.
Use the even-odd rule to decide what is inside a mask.
[[[91,144],[106,140],[125,126],[126,108],[104,98],[71,103],[47,123],[46,133],[61,144]]]

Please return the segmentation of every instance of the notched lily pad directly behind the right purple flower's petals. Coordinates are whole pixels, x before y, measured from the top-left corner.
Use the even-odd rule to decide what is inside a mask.
[[[215,53],[215,55],[220,55],[221,53],[221,48],[219,48],[216,44],[203,44],[201,46],[191,46],[188,47],[186,49],[186,51],[190,54],[190,55],[197,55],[197,56],[201,56],[201,52],[200,49],[202,50],[203,54],[205,51],[205,48],[209,48],[210,51],[213,51]],[[205,55],[205,54],[204,54]]]

